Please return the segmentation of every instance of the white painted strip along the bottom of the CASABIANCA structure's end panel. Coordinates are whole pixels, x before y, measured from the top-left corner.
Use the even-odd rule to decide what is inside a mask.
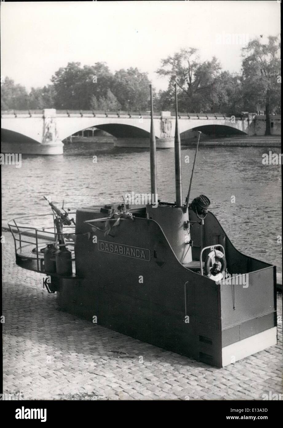
[[[222,367],[277,344],[277,327],[257,333],[222,348]]]

